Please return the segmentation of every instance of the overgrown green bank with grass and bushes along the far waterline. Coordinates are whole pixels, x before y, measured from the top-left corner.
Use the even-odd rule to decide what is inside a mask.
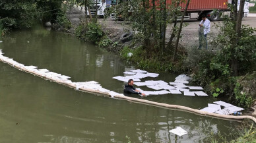
[[[225,97],[240,107],[248,108],[255,100],[255,91],[251,90],[255,80],[256,51],[254,30],[244,26],[240,44],[236,51],[230,39],[232,22],[226,22],[226,29],[215,38],[213,46],[219,47],[215,51],[197,49],[185,49],[179,46],[177,58],[173,60],[174,49],[164,49],[160,52],[154,46],[143,47],[143,37],[133,34],[129,42],[113,41],[108,32],[102,30],[102,26],[96,22],[80,24],[75,30],[76,36],[86,42],[98,44],[98,46],[115,51],[125,61],[137,64],[138,67],[148,71],[186,72],[193,76],[194,84],[203,86],[214,98]],[[228,31],[228,32],[225,32]],[[248,43],[248,41],[250,41]],[[234,55],[236,53],[237,55]],[[239,57],[239,75],[232,71],[232,59]]]

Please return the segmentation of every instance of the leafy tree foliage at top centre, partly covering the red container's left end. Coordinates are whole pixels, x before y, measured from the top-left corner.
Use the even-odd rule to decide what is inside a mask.
[[[166,26],[181,15],[181,7],[177,3],[182,2],[172,1],[172,5],[168,5],[164,0],[119,1],[119,5],[111,7],[108,13],[115,13],[117,19],[128,20],[133,31],[143,36],[143,48],[160,53],[166,43]]]

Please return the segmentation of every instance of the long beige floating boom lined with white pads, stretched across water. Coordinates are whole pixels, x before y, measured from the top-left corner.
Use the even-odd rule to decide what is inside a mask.
[[[119,98],[119,99],[123,99],[123,100],[127,100],[127,101],[133,101],[135,103],[143,103],[146,105],[154,105],[157,107],[164,107],[164,108],[168,108],[168,109],[180,109],[182,111],[186,111],[189,113],[195,113],[195,114],[199,114],[199,115],[208,115],[210,117],[217,117],[217,118],[222,118],[222,119],[251,119],[256,123],[256,119],[255,117],[252,116],[233,116],[233,115],[220,115],[220,114],[216,114],[216,113],[210,113],[208,111],[200,111],[198,109],[192,109],[190,107],[185,107],[185,106],[181,106],[181,105],[170,105],[170,104],[166,104],[166,103],[158,103],[155,101],[148,101],[148,100],[143,100],[143,99],[138,99],[138,98],[131,98],[131,97],[127,97],[124,96],[123,94],[119,94],[110,90],[107,90],[105,88],[102,88],[102,86],[100,86],[100,84],[98,84],[98,82],[72,82],[71,80],[69,80],[68,78],[70,78],[69,76],[62,76],[61,74],[55,73],[55,72],[50,72],[46,69],[42,69],[42,70],[38,70],[36,69],[37,67],[35,66],[25,66],[21,63],[18,63],[16,61],[14,61],[13,59],[10,59],[9,57],[5,57],[3,56],[2,50],[0,49],[0,61],[2,61],[3,63],[7,63],[9,65],[11,65],[12,67],[15,67],[16,69],[19,69],[20,71],[24,71],[24,72],[28,72],[30,74],[34,74],[36,76],[39,76],[41,78],[45,78],[47,80],[51,80],[53,82],[56,82],[58,84],[63,84],[65,86],[69,86],[71,88],[74,88],[76,90],[82,91],[82,92],[89,92],[89,93],[94,93],[94,94],[104,94],[107,96],[111,96],[113,98]],[[141,70],[134,70],[131,72],[139,72],[139,73],[148,73],[146,71],[141,71]],[[155,74],[154,76],[158,76],[158,74]],[[185,83],[185,81],[178,81],[179,83]],[[164,82],[162,82],[161,84],[165,84]],[[170,92],[178,92],[179,90],[170,90]],[[162,90],[157,94],[167,94],[169,93],[166,90]],[[189,93],[190,94],[190,93]],[[232,105],[228,105],[227,103],[218,101],[215,102],[216,104],[219,105],[223,105],[224,107],[230,107]],[[233,108],[229,108],[230,110],[240,110]],[[225,111],[228,109],[224,109]],[[224,111],[223,111],[224,112]]]

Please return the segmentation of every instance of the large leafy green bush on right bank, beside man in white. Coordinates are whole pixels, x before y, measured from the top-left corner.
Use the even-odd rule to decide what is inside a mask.
[[[219,47],[214,56],[210,56],[199,64],[199,69],[195,74],[198,80],[214,97],[220,95],[230,95],[230,98],[238,101],[243,107],[249,107],[252,99],[241,94],[237,83],[237,76],[234,74],[232,65],[238,65],[238,76],[247,72],[255,71],[256,65],[256,36],[255,28],[241,26],[241,34],[234,29],[235,22],[230,18],[224,20],[224,24],[218,26],[220,34],[214,40],[214,45]],[[236,40],[236,45],[234,45]],[[220,91],[216,91],[220,89]],[[224,91],[222,93],[222,90]]]

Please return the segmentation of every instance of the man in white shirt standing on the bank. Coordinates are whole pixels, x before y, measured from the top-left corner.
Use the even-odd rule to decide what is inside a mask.
[[[199,49],[205,47],[207,49],[207,34],[210,32],[210,20],[203,15],[199,24]]]

